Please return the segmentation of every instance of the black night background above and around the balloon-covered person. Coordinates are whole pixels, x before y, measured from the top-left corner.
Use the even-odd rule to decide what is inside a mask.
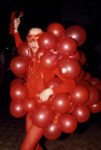
[[[9,35],[9,23],[12,11],[23,11],[19,32],[23,40],[31,27],[41,27],[44,31],[49,23],[59,22],[65,28],[81,25],[87,33],[83,50],[87,57],[88,70],[92,77],[101,79],[101,1],[99,0],[3,0],[0,4],[0,53],[5,55],[5,73],[0,85],[5,99],[9,96],[9,84],[13,74],[9,70],[12,58],[14,38]],[[1,71],[2,72],[2,71]],[[9,100],[7,102],[9,104]]]

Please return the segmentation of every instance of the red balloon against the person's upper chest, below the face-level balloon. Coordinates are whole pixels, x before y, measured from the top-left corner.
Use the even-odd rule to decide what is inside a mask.
[[[40,59],[40,64],[45,69],[54,69],[57,67],[59,62],[59,58],[57,54],[53,54],[52,52],[48,52],[45,55],[43,55]]]

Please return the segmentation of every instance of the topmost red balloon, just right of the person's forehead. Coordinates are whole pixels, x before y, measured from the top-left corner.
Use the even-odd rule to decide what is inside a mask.
[[[59,23],[51,23],[47,27],[47,32],[52,33],[58,39],[65,35],[64,27]]]

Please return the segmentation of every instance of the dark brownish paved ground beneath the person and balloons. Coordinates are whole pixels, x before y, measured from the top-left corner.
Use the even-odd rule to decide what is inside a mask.
[[[25,118],[16,119],[9,109],[0,113],[0,150],[20,150],[25,136]],[[78,124],[72,134],[62,134],[58,140],[41,139],[45,150],[101,150],[101,113],[92,114],[88,122]]]

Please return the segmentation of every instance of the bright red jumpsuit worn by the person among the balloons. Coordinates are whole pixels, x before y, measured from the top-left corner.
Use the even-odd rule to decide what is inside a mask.
[[[22,43],[19,33],[15,33],[15,43],[18,48]],[[29,69],[27,72],[26,86],[29,92],[29,97],[37,98],[37,95],[45,90],[46,83],[53,77],[57,76],[63,83],[57,87],[53,87],[53,93],[68,93],[75,87],[75,81],[72,79],[65,79],[61,76],[58,69],[46,70],[40,65],[40,60],[38,58],[39,52],[35,54],[30,60]],[[36,127],[32,124],[30,120],[30,115],[26,116],[26,129],[27,134],[22,144],[21,150],[33,150],[42,137],[42,129]],[[37,150],[41,149],[38,145]]]

